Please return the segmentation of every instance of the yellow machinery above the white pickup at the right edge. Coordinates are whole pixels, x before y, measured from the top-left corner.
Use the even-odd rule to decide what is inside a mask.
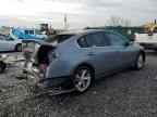
[[[153,32],[155,27],[157,27],[157,23],[156,23],[156,20],[155,20],[155,23],[152,23],[152,24],[147,24],[144,26],[144,31],[145,32]]]

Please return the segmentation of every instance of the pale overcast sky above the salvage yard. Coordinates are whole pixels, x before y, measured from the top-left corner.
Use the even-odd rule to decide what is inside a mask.
[[[157,18],[157,0],[1,0],[0,26],[36,27],[48,23],[55,28],[110,25],[111,16],[143,25]]]

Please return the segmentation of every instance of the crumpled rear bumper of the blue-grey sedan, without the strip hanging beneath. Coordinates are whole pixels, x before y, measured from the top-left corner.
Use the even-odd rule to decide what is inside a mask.
[[[46,70],[41,74],[38,68],[32,67],[32,68],[23,68],[23,73],[26,75],[26,80],[32,86],[37,86],[41,89],[48,89],[48,88],[57,88],[62,87],[69,83],[69,77],[58,77],[58,78],[45,78]]]

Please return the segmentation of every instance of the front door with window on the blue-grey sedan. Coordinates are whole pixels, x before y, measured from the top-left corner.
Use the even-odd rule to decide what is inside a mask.
[[[117,51],[117,65],[118,67],[125,67],[132,64],[133,61],[133,47],[128,43],[128,40],[121,35],[116,32],[106,32],[110,41],[110,47]]]

